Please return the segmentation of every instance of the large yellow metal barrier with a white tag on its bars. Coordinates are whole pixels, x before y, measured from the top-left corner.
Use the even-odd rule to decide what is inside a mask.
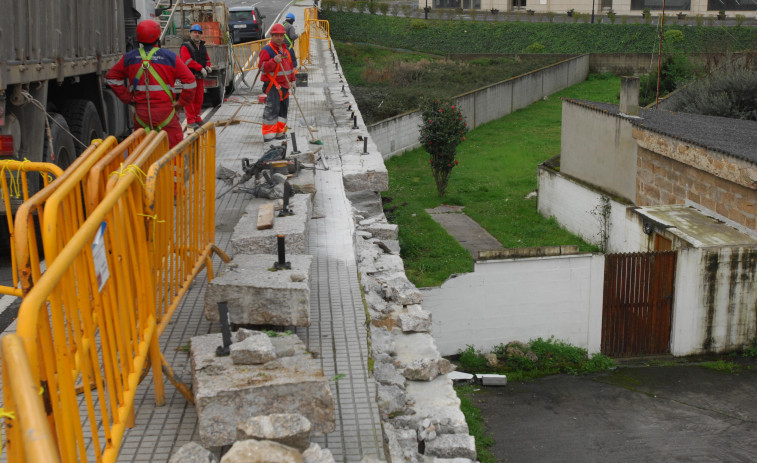
[[[43,388],[64,462],[116,460],[148,356],[156,401],[164,401],[155,291],[144,221],[136,208],[142,188],[138,173],[123,173],[116,188],[70,236],[19,310],[17,334],[34,384]],[[23,358],[3,360],[5,405],[13,407],[23,391],[8,382],[8,372],[15,372]],[[84,411],[77,383],[85,386]],[[34,413],[14,408],[17,419]],[[18,445],[22,432],[13,426],[7,434],[10,462],[27,461]]]

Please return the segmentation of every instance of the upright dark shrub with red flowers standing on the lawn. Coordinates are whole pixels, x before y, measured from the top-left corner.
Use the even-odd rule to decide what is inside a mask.
[[[421,105],[423,124],[419,141],[431,155],[429,162],[436,182],[436,191],[443,197],[455,159],[457,145],[465,140],[468,124],[463,114],[450,100],[426,100]]]

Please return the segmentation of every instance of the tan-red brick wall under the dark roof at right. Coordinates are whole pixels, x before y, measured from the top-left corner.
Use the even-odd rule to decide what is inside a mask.
[[[684,204],[688,199],[757,230],[757,189],[723,180],[688,164],[639,147],[636,204]]]

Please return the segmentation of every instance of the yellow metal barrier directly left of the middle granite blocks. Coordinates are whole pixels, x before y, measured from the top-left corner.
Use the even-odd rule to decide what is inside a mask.
[[[214,244],[215,149],[215,125],[207,123],[147,172],[144,201],[159,335],[203,266],[208,281],[213,279],[212,254],[230,260]]]

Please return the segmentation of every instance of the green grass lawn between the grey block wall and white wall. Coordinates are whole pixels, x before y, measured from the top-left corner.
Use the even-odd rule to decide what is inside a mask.
[[[465,206],[465,213],[504,247],[576,244],[583,251],[596,250],[539,215],[536,198],[525,196],[536,190],[537,165],[560,152],[560,98],[617,103],[619,92],[619,78],[592,76],[470,131],[458,147],[460,165],[452,172],[444,198],[436,194],[423,149],[389,159],[384,209],[399,225],[408,278],[418,287],[438,286],[453,273],[473,270],[468,251],[424,211],[440,204]]]

